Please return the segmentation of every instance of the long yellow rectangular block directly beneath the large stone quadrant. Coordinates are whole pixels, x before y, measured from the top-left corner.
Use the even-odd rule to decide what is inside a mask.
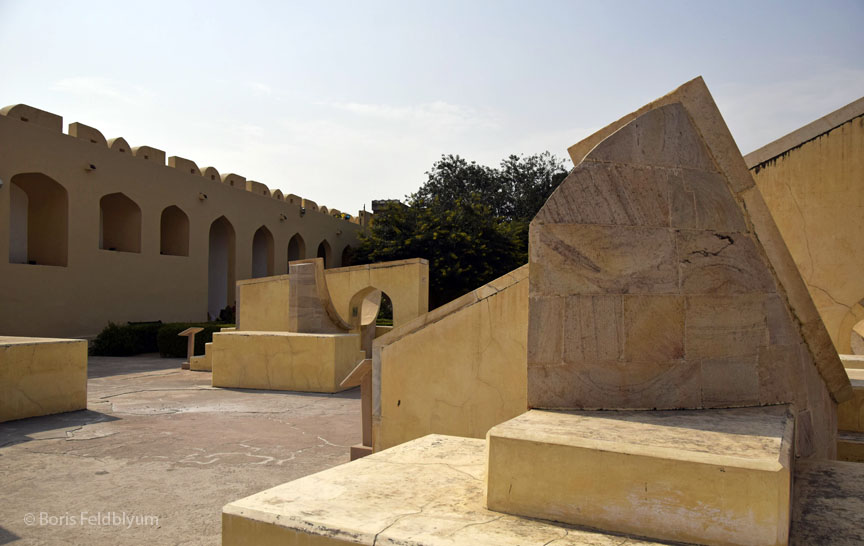
[[[786,544],[786,406],[532,410],[489,431],[487,508],[697,544]]]

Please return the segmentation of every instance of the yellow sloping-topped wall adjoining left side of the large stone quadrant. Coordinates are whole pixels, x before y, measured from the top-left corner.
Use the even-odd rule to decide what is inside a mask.
[[[425,436],[483,438],[526,408],[528,266],[375,340],[376,451]]]

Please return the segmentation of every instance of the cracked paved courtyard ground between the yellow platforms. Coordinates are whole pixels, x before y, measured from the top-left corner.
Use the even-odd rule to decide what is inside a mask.
[[[223,505],[360,441],[358,389],[214,389],[181,362],[90,357],[86,411],[0,423],[0,544],[219,544]]]

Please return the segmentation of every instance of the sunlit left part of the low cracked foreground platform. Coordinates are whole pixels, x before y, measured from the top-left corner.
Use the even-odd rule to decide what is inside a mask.
[[[222,509],[223,546],[656,546],[483,507],[483,440],[429,435]]]

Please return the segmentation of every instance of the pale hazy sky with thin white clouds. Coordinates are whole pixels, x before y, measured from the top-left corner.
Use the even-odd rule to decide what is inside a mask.
[[[697,75],[750,152],[864,95],[862,28],[862,0],[0,0],[0,105],[353,213]]]

